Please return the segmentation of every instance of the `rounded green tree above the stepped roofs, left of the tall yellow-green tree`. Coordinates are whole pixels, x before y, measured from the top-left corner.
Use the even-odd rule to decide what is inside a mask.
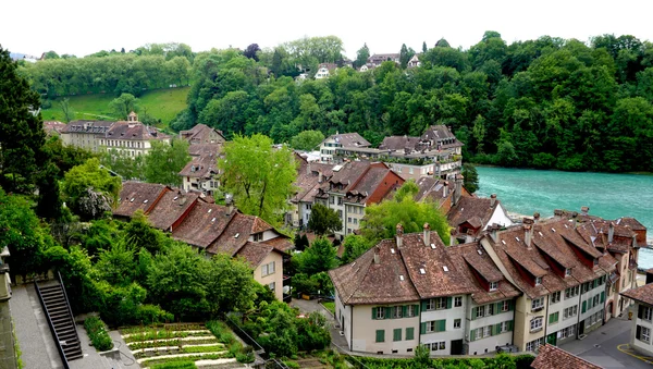
[[[149,183],[160,183],[181,186],[182,169],[190,161],[188,142],[174,138],[167,143],[152,142],[149,153],[145,157],[145,180]]]

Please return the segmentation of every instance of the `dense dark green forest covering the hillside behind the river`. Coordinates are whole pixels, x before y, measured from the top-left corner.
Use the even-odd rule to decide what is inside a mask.
[[[341,67],[326,79],[294,81],[320,62],[342,62],[340,52],[342,42],[326,37],[197,53],[188,108],[171,125],[205,123],[230,137],[263,133],[278,143],[306,130],[358,132],[378,144],[442,123],[466,143],[469,161],[653,171],[653,44],[633,36],[508,45],[486,32],[469,50],[440,40],[419,56],[420,67],[385,62],[370,72]],[[359,50],[358,65],[366,53]],[[30,79],[42,93],[39,77]]]

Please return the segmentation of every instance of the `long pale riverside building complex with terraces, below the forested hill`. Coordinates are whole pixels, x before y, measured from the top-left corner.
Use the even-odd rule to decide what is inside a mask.
[[[385,162],[405,180],[421,176],[453,179],[460,173],[461,148],[463,143],[445,125],[432,125],[420,137],[385,137],[379,148],[372,148],[358,133],[336,133],[320,145],[320,161],[377,160]]]

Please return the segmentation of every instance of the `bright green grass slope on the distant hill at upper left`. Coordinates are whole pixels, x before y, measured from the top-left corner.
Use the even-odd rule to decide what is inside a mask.
[[[165,127],[174,116],[186,108],[186,96],[190,87],[165,88],[146,91],[138,99],[140,100],[140,112],[147,112]],[[70,96],[70,104],[75,112],[75,119],[85,120],[116,120],[109,102],[115,98],[112,94],[95,94]],[[63,113],[59,108],[58,100],[52,101],[50,109],[41,110],[44,121],[63,121]]]

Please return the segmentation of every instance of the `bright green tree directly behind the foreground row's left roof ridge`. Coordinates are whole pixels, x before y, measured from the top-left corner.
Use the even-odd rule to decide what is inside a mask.
[[[392,238],[397,224],[404,226],[405,233],[421,232],[424,223],[436,231],[445,245],[449,242],[449,225],[446,217],[431,202],[417,202],[414,196],[419,187],[412,181],[406,182],[393,199],[384,200],[366,209],[360,232],[370,243]]]

